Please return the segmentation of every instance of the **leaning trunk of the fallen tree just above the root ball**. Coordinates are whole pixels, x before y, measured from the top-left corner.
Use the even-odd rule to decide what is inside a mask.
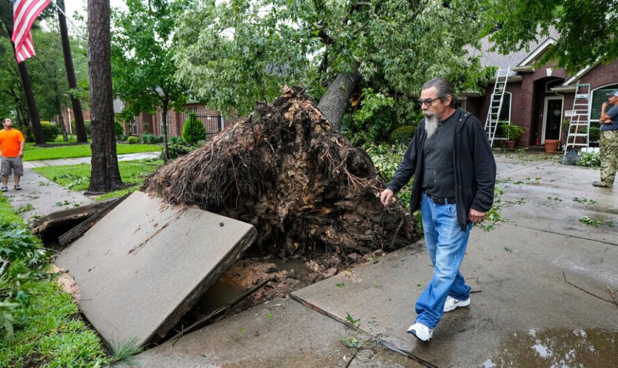
[[[350,103],[350,97],[360,82],[360,75],[356,70],[358,70],[358,66],[352,73],[338,74],[317,105],[317,108],[331,122],[331,126],[336,131],[340,130],[343,115]]]

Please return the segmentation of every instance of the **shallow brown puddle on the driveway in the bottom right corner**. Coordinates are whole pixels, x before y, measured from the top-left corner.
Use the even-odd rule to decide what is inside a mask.
[[[618,332],[600,328],[515,333],[481,367],[616,367]]]

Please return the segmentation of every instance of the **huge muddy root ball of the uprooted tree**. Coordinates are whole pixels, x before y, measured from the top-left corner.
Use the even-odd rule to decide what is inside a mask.
[[[244,122],[153,172],[144,192],[249,222],[281,256],[390,251],[415,240],[400,203],[384,208],[384,183],[367,154],[325,119],[299,87],[283,87]]]

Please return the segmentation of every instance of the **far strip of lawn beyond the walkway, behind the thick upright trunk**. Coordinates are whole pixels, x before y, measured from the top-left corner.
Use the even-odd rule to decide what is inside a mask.
[[[125,153],[142,153],[142,152],[157,152],[161,151],[160,144],[116,144],[116,150],[119,155]],[[26,144],[24,149],[24,161],[35,160],[54,160],[57,158],[74,158],[74,157],[89,157],[92,155],[90,144],[80,144],[78,146],[60,146],[60,147],[33,147],[32,144]]]

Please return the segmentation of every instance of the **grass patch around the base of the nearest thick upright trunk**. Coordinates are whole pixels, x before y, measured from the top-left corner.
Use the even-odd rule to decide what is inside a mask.
[[[97,201],[122,196],[137,190],[142,181],[144,181],[144,178],[162,165],[162,163],[162,160],[119,161],[118,167],[122,181],[134,186],[103,194],[97,198]],[[90,164],[37,167],[33,170],[49,180],[76,192],[87,190],[90,185]]]

